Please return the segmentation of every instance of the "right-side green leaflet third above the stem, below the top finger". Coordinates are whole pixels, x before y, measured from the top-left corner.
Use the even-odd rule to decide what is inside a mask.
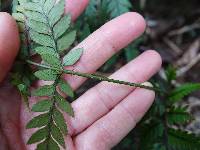
[[[54,36],[56,39],[59,38],[61,35],[63,35],[67,31],[67,29],[69,28],[70,22],[71,22],[71,16],[65,15],[55,25],[55,27],[53,28],[53,31],[54,31]]]

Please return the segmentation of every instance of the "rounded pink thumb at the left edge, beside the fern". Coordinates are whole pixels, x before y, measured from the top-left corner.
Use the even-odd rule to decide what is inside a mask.
[[[10,70],[19,50],[19,33],[15,20],[0,12],[0,82]]]

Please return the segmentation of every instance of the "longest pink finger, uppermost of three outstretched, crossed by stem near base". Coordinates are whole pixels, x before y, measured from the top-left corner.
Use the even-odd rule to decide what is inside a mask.
[[[77,46],[84,48],[83,55],[76,65],[68,69],[86,73],[95,72],[112,55],[139,37],[144,29],[143,17],[134,12],[113,19]],[[70,75],[66,75],[65,79],[74,89],[85,81],[85,78]]]

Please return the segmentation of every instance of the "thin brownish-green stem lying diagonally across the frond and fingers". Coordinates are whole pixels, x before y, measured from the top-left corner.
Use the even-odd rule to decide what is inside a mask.
[[[98,74],[88,74],[88,73],[76,72],[76,71],[73,71],[73,70],[65,70],[65,69],[62,69],[62,68],[55,68],[55,67],[47,66],[47,65],[44,65],[44,64],[39,64],[39,63],[33,62],[31,60],[27,60],[26,62],[31,64],[31,65],[34,65],[34,66],[38,66],[38,67],[42,67],[42,68],[46,68],[46,69],[52,69],[52,70],[56,70],[56,71],[61,71],[64,74],[70,74],[70,75],[85,77],[85,78],[94,79],[94,80],[98,80],[98,81],[106,81],[106,82],[122,84],[122,85],[131,86],[131,87],[137,87],[137,88],[144,88],[144,89],[148,89],[148,90],[152,90],[152,91],[165,93],[165,91],[163,91],[159,88],[146,86],[146,85],[139,84],[139,83],[132,83],[132,82],[115,80],[115,79],[104,77],[104,76],[101,76],[101,75],[98,75]]]

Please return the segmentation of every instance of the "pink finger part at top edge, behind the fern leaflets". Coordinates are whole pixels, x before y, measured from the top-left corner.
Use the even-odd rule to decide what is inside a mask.
[[[84,11],[89,0],[66,0],[66,12],[70,12],[72,19],[75,20]]]

